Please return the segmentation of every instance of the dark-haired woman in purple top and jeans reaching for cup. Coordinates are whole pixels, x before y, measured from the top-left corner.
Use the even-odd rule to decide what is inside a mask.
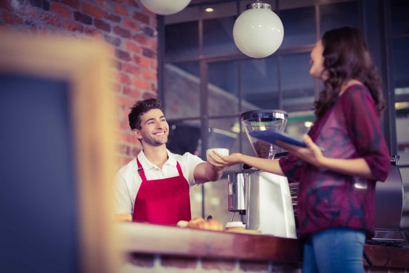
[[[305,240],[303,273],[364,272],[365,238],[374,231],[375,183],[384,181],[389,151],[379,126],[381,83],[359,29],[324,34],[311,54],[310,75],[324,81],[307,148],[280,143],[287,158],[240,153],[211,156],[211,164],[245,163],[299,181],[299,237]],[[324,154],[318,146],[324,147]]]

